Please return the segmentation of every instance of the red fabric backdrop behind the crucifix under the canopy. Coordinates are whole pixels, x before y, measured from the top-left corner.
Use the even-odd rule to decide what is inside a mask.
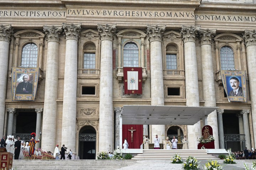
[[[129,129],[136,130],[133,131],[133,142],[132,142],[132,132],[128,131]],[[122,130],[122,139],[124,143],[124,138],[127,138],[127,142],[129,144],[128,149],[140,149],[140,145],[143,142],[143,125],[123,125]],[[122,146],[123,148],[123,146]]]

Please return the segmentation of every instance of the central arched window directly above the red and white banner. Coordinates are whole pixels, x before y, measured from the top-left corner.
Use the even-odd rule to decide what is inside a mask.
[[[139,49],[135,43],[127,43],[123,49],[123,67],[139,67]]]

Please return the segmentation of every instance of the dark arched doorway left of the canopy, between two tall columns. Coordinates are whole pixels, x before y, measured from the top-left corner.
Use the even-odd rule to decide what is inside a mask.
[[[78,156],[80,159],[96,159],[96,130],[92,126],[84,126],[79,131]]]

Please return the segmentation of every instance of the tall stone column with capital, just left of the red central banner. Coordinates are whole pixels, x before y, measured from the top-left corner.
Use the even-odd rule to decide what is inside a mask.
[[[116,25],[98,24],[101,39],[99,152],[113,146],[113,38]]]

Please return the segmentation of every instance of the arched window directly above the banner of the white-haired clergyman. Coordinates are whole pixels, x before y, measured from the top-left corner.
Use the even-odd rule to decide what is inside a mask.
[[[37,45],[27,44],[22,49],[21,67],[37,67]]]

